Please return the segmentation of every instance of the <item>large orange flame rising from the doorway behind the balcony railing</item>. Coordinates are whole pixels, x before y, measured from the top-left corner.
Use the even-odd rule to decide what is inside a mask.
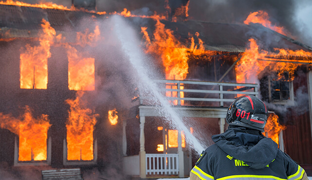
[[[147,27],[141,27],[141,32],[145,39],[146,53],[156,54],[162,60],[165,67],[166,79],[169,80],[184,80],[188,74],[188,60],[189,55],[199,54],[214,54],[212,51],[205,51],[203,41],[199,39],[199,47],[195,45],[194,37],[191,39],[191,46],[187,47],[183,45],[175,36],[174,32],[170,29],[166,29],[165,25],[159,20],[156,21],[156,29],[154,31],[154,38],[151,39],[147,33]],[[199,34],[196,33],[198,37]],[[168,85],[167,89],[177,89],[176,85]],[[183,89],[183,86],[180,88]],[[177,97],[177,91],[167,91],[166,96]],[[180,97],[184,97],[184,93],[180,92]],[[177,100],[173,102],[177,105]],[[181,105],[184,102],[181,101]]]

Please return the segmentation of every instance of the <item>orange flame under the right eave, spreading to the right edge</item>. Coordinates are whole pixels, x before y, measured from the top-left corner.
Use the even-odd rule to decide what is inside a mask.
[[[312,63],[311,52],[275,48],[276,53],[270,53],[265,50],[259,50],[254,39],[249,39],[249,41],[250,46],[246,48],[242,58],[235,66],[237,83],[256,83],[258,74],[266,68],[272,72],[278,72],[278,79],[282,77],[283,72],[289,72],[290,80],[293,80],[294,72],[300,65],[295,62]],[[290,60],[292,56],[300,56],[302,60]]]

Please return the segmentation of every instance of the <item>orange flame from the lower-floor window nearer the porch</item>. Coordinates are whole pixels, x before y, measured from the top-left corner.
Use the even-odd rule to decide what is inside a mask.
[[[66,122],[67,160],[93,160],[93,131],[98,114],[86,108],[82,95],[83,91],[77,91],[75,100],[66,100],[70,105]]]

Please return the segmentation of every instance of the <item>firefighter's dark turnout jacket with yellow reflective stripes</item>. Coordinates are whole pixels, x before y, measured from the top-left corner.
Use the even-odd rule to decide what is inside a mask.
[[[212,139],[215,144],[201,153],[190,180],[308,180],[304,169],[258,130],[234,127]]]

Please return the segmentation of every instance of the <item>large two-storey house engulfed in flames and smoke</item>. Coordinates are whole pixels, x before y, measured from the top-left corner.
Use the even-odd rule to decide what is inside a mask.
[[[251,94],[268,104],[265,135],[310,172],[312,157],[303,154],[312,148],[312,48],[272,26],[265,12],[244,23],[203,22],[187,20],[188,3],[168,17],[1,2],[0,160],[188,176],[198,158],[189,136],[224,132],[227,107]],[[185,129],[165,121],[159,102],[137,88],[105,21],[113,15],[141,37],[153,59],[144,63],[164,79],[157,87],[184,112]]]

